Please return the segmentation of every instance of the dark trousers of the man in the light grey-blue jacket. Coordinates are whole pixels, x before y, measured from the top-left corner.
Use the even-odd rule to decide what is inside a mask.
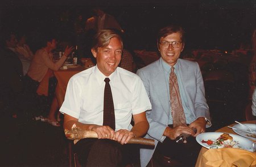
[[[172,127],[172,125],[168,125]],[[164,139],[163,143],[158,143],[156,152],[159,155],[170,157],[171,160],[180,162],[181,166],[195,166],[201,145],[196,142],[196,138],[190,136],[187,143],[176,143],[170,138]]]

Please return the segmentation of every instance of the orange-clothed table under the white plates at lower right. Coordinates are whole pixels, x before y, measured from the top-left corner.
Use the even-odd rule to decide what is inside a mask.
[[[251,123],[251,124],[255,124],[256,126],[256,120],[251,120],[251,121],[243,121],[241,123]],[[237,123],[233,123],[231,125],[228,125],[230,127],[233,127],[234,125],[236,125]],[[218,129],[216,130],[216,132],[223,132],[223,133],[228,133],[228,134],[235,134],[235,135],[238,135],[236,134],[236,132],[233,131],[233,129],[229,128],[228,126],[225,126],[225,127],[222,127],[221,129]],[[245,138],[245,137],[243,137]],[[246,138],[247,139],[247,138]],[[255,143],[255,140],[253,139],[249,139],[251,141],[253,141]],[[226,149],[228,150],[229,148],[220,148],[220,149]],[[235,148],[231,148],[231,149],[235,149]],[[199,153],[199,156],[197,157],[197,162],[196,162],[196,167],[204,167],[204,166],[207,166],[205,165],[205,159],[204,159],[204,154],[208,151],[209,149],[205,148],[205,147],[202,147],[201,150],[200,150],[200,153]],[[246,151],[247,153],[251,154],[252,156],[254,156],[254,159],[256,159],[256,152],[249,152],[249,151]],[[216,165],[217,166],[217,165]],[[253,166],[256,166],[256,165],[253,165]]]

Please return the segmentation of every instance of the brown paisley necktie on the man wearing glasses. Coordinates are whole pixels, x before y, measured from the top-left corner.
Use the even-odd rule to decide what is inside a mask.
[[[177,83],[177,76],[174,73],[174,67],[171,67],[169,84],[173,126],[186,125],[185,114],[180,99],[179,84]]]

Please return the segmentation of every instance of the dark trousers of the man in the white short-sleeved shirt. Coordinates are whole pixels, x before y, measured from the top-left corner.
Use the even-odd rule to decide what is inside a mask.
[[[110,139],[82,139],[74,145],[82,166],[125,166],[139,164],[137,144],[119,144]]]

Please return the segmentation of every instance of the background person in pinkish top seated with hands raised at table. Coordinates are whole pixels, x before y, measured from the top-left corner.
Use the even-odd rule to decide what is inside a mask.
[[[30,68],[28,69],[28,72],[26,75],[27,88],[28,88],[27,91],[30,92],[29,94],[31,95],[35,95],[36,90],[38,89],[38,86],[40,82],[42,82],[44,77],[48,77],[48,79],[53,77],[52,71],[59,70],[59,68],[63,65],[63,63],[67,59],[68,55],[73,50],[73,47],[67,46],[67,48],[65,48],[64,55],[62,55],[58,61],[54,62],[52,50],[56,49],[56,45],[57,45],[56,38],[53,36],[49,36],[49,37],[47,36],[43,44],[44,44],[43,48],[36,51],[35,56],[31,62]],[[45,89],[47,94],[48,87]],[[54,113],[56,112],[57,108],[58,108],[57,100],[56,100],[56,97],[54,97],[52,101],[49,117],[48,117],[48,122],[51,123],[52,125],[60,126],[54,117],[55,115]],[[37,114],[39,113],[36,113],[35,116],[39,116]]]

